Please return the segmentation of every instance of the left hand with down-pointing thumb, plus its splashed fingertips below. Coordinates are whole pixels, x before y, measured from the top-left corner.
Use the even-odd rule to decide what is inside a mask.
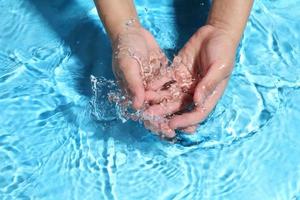
[[[121,88],[131,97],[134,109],[145,108],[151,82],[165,83],[169,79],[166,56],[151,33],[141,27],[128,27],[121,32],[113,42],[113,52],[113,71]],[[153,132],[175,135],[163,117],[140,117]]]

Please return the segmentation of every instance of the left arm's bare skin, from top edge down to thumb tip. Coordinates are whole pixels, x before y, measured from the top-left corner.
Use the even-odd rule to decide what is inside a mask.
[[[130,93],[133,108],[141,109],[145,100],[145,85],[139,62],[149,62],[150,58],[158,55],[161,50],[154,37],[141,27],[132,0],[95,0],[95,5],[111,40],[113,52],[123,49],[123,56],[113,56],[115,76],[122,88]],[[132,23],[126,26],[129,20],[132,20]],[[127,49],[131,49],[131,53],[136,54],[138,58],[129,56]],[[165,62],[166,58],[158,60]]]

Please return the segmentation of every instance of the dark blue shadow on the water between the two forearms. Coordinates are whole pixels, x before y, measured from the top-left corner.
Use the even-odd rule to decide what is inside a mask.
[[[178,34],[174,53],[177,53],[196,30],[205,24],[209,13],[210,1],[173,0],[173,6]]]

